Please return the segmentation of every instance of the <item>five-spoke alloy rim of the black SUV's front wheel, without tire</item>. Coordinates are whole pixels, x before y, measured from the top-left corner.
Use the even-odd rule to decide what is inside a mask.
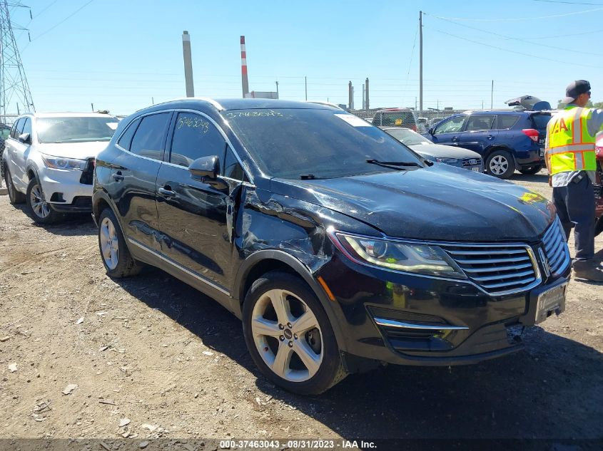
[[[290,291],[266,291],[253,307],[253,342],[264,363],[280,378],[303,382],[323,362],[323,336],[318,320]]]

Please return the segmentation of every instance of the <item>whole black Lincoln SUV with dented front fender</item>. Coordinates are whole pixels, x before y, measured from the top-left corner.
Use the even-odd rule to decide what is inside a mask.
[[[569,253],[544,197],[328,106],[140,110],[98,155],[93,214],[109,276],[151,264],[212,296],[296,393],[384,362],[502,356],[564,309]]]

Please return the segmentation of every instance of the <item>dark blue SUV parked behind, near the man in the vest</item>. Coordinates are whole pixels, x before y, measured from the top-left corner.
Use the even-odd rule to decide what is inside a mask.
[[[465,111],[440,121],[423,136],[479,153],[488,174],[508,179],[515,170],[536,174],[542,169],[550,118],[550,111],[539,110]]]

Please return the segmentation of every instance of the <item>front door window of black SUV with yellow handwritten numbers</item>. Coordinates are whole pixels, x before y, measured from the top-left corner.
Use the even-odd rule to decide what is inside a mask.
[[[224,155],[226,141],[208,118],[196,113],[178,113],[174,126],[170,162],[188,167],[201,157]]]

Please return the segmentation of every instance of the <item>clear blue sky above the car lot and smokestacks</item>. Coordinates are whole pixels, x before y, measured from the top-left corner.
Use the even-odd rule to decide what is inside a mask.
[[[307,77],[308,99],[347,103],[352,81],[360,108],[368,77],[372,108],[414,106],[420,10],[424,108],[489,108],[492,80],[495,107],[524,94],[556,103],[581,78],[592,100],[603,100],[603,0],[22,3],[34,19],[11,8],[11,21],[32,39],[14,31],[38,111],[93,103],[128,114],[183,97],[183,30],[196,95],[241,96],[245,35],[251,90],[275,90],[278,81],[280,98],[304,100]]]

